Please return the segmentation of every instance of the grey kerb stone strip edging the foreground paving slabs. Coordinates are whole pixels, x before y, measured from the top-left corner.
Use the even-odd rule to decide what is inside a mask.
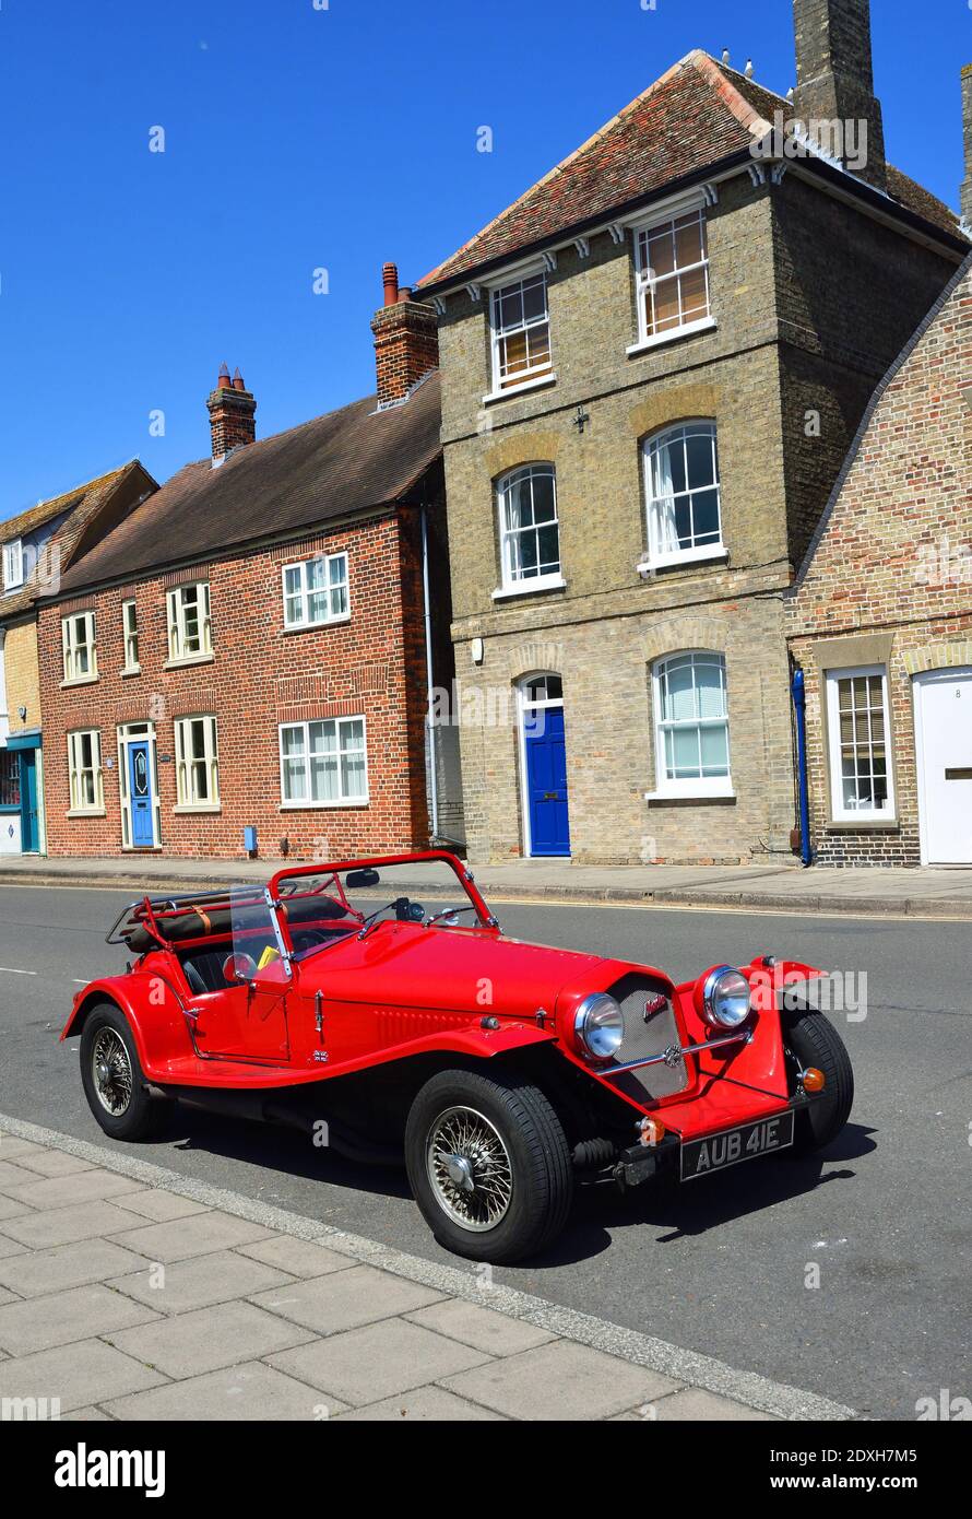
[[[327,1246],[340,1255],[349,1255],[363,1265],[374,1265],[378,1270],[390,1271],[407,1281],[433,1287],[465,1302],[478,1303],[481,1308],[492,1308],[510,1318],[522,1318],[538,1329],[547,1329],[563,1340],[576,1344],[586,1344],[606,1355],[618,1356],[633,1366],[668,1376],[671,1381],[700,1387],[718,1397],[758,1408],[761,1413],[775,1414],[782,1420],[797,1422],[837,1422],[857,1420],[863,1416],[844,1404],[832,1402],[819,1393],[802,1391],[785,1382],[775,1382],[758,1372],[738,1372],[714,1356],[697,1350],[686,1350],[656,1340],[653,1335],[641,1334],[638,1329],[626,1329],[621,1325],[609,1323],[592,1314],[580,1312],[574,1308],[563,1308],[532,1293],[521,1293],[512,1287],[492,1287],[483,1290],[474,1276],[475,1262],[469,1262],[468,1270],[445,1265],[437,1261],[425,1261],[421,1256],[407,1255],[392,1246],[366,1240],[361,1235],[348,1233],[333,1224],[325,1224],[317,1218],[304,1214],[293,1214],[270,1203],[261,1203],[241,1192],[231,1192],[226,1188],[213,1186],[193,1177],[181,1176],[166,1167],[135,1156],[114,1153],[87,1139],[76,1139],[73,1135],[59,1133],[39,1124],[27,1123],[0,1113],[0,1129],[18,1139],[29,1139],[39,1145],[64,1150],[93,1165],[118,1171],[123,1176],[135,1177],[153,1188],[164,1188],[190,1197],[193,1202],[208,1208],[234,1214],[249,1223],[261,1224],[264,1229],[275,1229],[279,1233],[299,1240]],[[2,1141],[0,1141],[2,1151]]]

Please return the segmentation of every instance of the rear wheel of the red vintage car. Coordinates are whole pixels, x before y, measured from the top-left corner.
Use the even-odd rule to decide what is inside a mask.
[[[114,1003],[99,1003],[85,1019],[80,1080],[112,1139],[147,1139],[166,1120],[170,1103],[149,1094],[129,1021]]]

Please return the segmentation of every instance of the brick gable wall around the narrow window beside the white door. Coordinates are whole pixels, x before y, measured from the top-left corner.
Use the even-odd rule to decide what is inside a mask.
[[[972,665],[972,270],[878,401],[788,603],[788,629],[793,658],[806,677],[811,835],[819,863],[919,864],[913,677]],[[826,784],[822,671],[837,639],[843,646],[870,633],[890,633],[898,822],[837,828]],[[838,662],[844,664],[843,656]]]

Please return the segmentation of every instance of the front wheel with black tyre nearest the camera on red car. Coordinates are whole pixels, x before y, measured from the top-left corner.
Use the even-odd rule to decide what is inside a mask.
[[[472,1261],[538,1255],[570,1214],[574,1174],[560,1120],[515,1074],[433,1075],[409,1113],[406,1165],[439,1244]]]

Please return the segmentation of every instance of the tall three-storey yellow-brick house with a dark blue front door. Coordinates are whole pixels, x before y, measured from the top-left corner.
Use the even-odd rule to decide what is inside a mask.
[[[790,854],[784,591],[969,246],[885,161],[867,0],[794,15],[793,100],[693,52],[416,287],[474,858]]]

